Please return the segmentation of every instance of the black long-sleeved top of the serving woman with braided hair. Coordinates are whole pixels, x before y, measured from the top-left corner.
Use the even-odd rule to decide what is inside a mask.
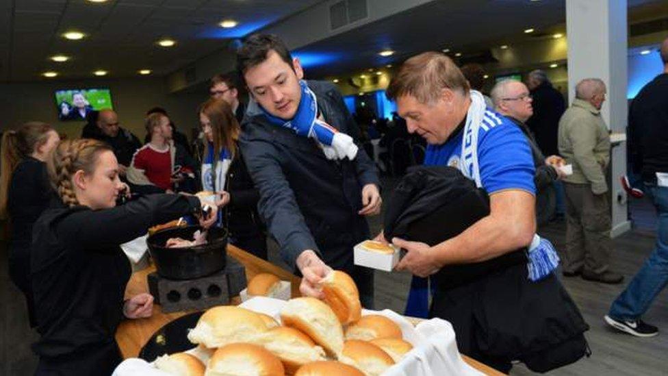
[[[35,223],[31,279],[44,358],[114,343],[131,268],[119,245],[200,208],[196,197],[151,195],[104,210],[54,201]]]

